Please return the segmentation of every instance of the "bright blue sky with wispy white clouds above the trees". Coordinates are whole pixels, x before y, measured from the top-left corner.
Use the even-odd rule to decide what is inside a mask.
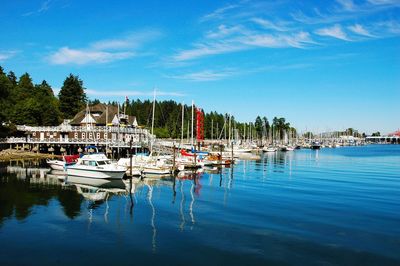
[[[0,66],[299,132],[400,128],[400,1],[0,0]]]

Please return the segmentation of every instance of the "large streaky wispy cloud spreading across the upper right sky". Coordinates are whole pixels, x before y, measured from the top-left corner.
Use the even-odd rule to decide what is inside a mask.
[[[385,38],[397,34],[398,22],[378,24],[374,21],[375,14],[384,14],[399,3],[395,0],[336,0],[313,6],[278,1],[277,6],[271,7],[263,1],[238,1],[203,16],[202,27],[209,26],[209,29],[165,61],[179,66],[203,57],[251,49],[304,49],[327,44],[326,37],[352,42]],[[278,7],[285,8],[285,14],[279,12]],[[364,18],[368,18],[367,25],[358,22]]]

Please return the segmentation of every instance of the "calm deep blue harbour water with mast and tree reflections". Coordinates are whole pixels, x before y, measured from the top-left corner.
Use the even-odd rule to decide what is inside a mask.
[[[132,185],[0,171],[1,265],[400,265],[400,145]]]

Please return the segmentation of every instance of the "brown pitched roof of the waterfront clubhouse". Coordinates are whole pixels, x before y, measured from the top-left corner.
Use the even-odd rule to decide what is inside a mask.
[[[108,109],[108,110],[107,110]],[[96,125],[105,125],[107,123],[111,123],[113,118],[115,117],[116,114],[118,114],[118,106],[116,105],[106,105],[106,104],[96,104],[93,106],[89,106],[89,110],[91,114],[97,113],[99,116],[93,116],[91,117],[96,121]],[[71,121],[71,125],[80,125],[82,123],[82,120],[86,116],[86,108],[80,111],[75,115],[75,117]],[[135,116],[128,116],[128,123],[130,125],[134,124],[136,121]]]

